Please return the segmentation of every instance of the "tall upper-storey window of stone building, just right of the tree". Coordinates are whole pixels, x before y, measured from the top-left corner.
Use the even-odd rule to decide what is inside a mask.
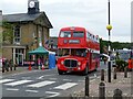
[[[20,44],[20,38],[21,38],[21,34],[20,34],[20,26],[17,25],[14,26],[14,44]]]

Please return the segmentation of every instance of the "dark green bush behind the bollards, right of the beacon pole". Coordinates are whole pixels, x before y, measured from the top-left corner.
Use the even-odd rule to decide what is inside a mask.
[[[124,72],[124,68],[127,67],[127,63],[123,59],[116,59],[115,63],[119,72]]]

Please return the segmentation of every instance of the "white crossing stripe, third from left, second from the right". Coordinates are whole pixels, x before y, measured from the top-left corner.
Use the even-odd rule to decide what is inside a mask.
[[[55,82],[55,81],[45,80],[45,81],[37,82],[37,84],[33,84],[33,85],[28,85],[28,87],[40,88],[40,87],[44,87],[44,86],[47,86],[47,85],[51,85],[51,84],[54,84],[54,82]]]

